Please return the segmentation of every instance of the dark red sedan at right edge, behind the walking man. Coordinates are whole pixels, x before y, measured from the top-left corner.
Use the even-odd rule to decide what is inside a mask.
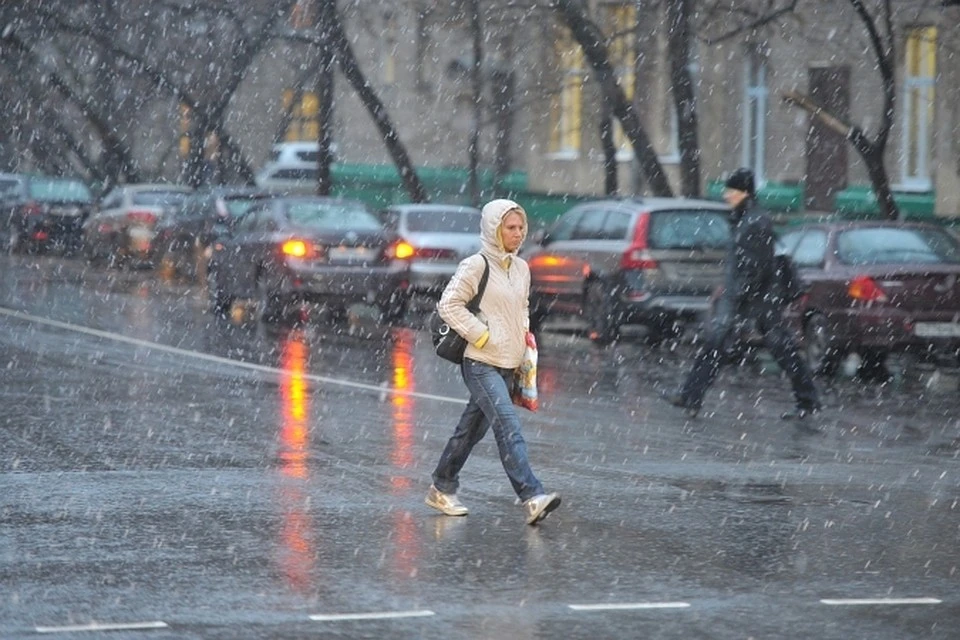
[[[781,243],[807,293],[787,311],[802,332],[811,368],[833,375],[848,353],[861,370],[882,369],[892,352],[960,350],[960,242],[928,223],[810,224]]]

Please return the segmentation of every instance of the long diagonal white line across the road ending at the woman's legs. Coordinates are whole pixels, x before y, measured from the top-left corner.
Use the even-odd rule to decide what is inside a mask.
[[[124,335],[120,335],[119,333],[110,333],[109,331],[101,331],[100,329],[91,329],[89,327],[82,327],[80,325],[70,324],[68,322],[60,322],[59,320],[51,320],[49,318],[34,316],[29,313],[17,311],[16,309],[7,309],[5,307],[0,307],[0,315],[10,316],[12,318],[17,318],[19,320],[24,320],[27,322],[35,322],[37,324],[47,325],[48,327],[56,327],[58,329],[65,329],[67,331],[75,331],[77,333],[83,333],[89,336],[96,336],[98,338],[104,338],[106,340],[113,340],[114,342],[123,342],[126,344],[136,345],[138,347],[147,347],[149,349],[156,349],[157,351],[164,351],[166,353],[173,353],[180,356],[187,356],[190,358],[196,358],[198,360],[206,360],[207,362],[216,362],[217,364],[225,364],[233,367],[238,367],[240,369],[249,369],[251,371],[261,371],[266,373],[277,373],[277,374],[286,373],[283,369],[279,369],[277,367],[268,367],[262,364],[254,364],[252,362],[243,362],[241,360],[231,360],[230,358],[215,356],[209,353],[202,353],[200,351],[190,351],[189,349],[180,349],[179,347],[171,347],[165,344],[160,344],[159,342],[150,342],[148,340],[130,338]],[[409,396],[414,398],[421,398],[424,400],[436,400],[437,402],[449,402],[457,405],[462,405],[465,402],[464,398],[451,398],[450,396],[438,396],[432,393],[420,393],[417,391],[404,391],[402,389],[391,389],[389,387],[384,387],[378,384],[356,382],[354,380],[347,380],[344,378],[331,378],[329,376],[315,376],[315,375],[304,375],[303,377],[304,379],[310,380],[312,382],[320,382],[323,384],[329,384],[329,385],[339,386],[339,387],[348,387],[350,389],[363,389],[365,391],[374,391],[376,393],[390,393],[397,396]]]

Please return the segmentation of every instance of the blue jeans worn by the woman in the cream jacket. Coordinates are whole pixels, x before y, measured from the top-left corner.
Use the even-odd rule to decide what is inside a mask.
[[[527,443],[520,433],[520,419],[510,401],[513,370],[465,358],[460,371],[470,391],[470,401],[433,472],[434,486],[443,493],[456,493],[460,486],[460,469],[474,445],[483,439],[487,429],[493,427],[500,462],[513,490],[521,500],[540,495],[543,485],[530,468]]]

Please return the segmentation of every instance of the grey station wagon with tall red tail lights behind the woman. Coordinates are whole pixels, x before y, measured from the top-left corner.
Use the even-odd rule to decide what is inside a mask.
[[[523,252],[530,265],[530,326],[583,316],[598,344],[621,325],[656,343],[702,316],[723,283],[729,209],[683,198],[598,200],[575,206]]]

